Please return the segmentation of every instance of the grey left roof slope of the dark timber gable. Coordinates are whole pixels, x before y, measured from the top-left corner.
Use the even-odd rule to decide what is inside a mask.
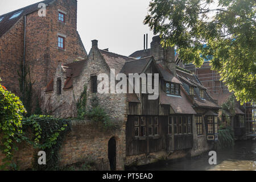
[[[152,56],[126,62],[121,69],[121,73],[125,73],[126,75],[129,73],[141,74],[151,60]]]

